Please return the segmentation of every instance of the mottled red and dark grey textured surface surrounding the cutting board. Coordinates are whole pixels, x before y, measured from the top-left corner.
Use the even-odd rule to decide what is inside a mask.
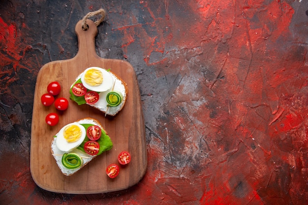
[[[0,5],[1,205],[307,204],[307,1]],[[37,72],[76,55],[75,24],[101,7],[97,54],[137,74],[147,173],[119,192],[48,192],[30,173]]]

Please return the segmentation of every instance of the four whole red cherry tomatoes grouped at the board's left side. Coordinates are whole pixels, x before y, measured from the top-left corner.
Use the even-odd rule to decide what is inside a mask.
[[[59,95],[61,86],[59,82],[51,82],[47,86],[47,92],[41,96],[41,102],[44,106],[51,106],[55,102],[57,110],[64,111],[68,108],[68,100],[64,97],[55,99],[56,95]],[[59,115],[57,113],[50,113],[46,116],[45,121],[50,126],[55,126],[59,122]]]

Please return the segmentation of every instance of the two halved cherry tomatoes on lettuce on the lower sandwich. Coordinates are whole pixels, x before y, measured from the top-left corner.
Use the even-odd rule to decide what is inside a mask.
[[[87,137],[90,141],[84,145],[84,150],[90,155],[96,155],[99,151],[99,144],[96,142],[101,136],[101,129],[97,125],[92,125],[87,129]]]

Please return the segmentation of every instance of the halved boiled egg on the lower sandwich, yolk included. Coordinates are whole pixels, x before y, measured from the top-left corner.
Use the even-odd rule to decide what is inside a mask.
[[[57,134],[56,145],[61,151],[80,146],[86,137],[86,128],[77,122],[65,125]]]

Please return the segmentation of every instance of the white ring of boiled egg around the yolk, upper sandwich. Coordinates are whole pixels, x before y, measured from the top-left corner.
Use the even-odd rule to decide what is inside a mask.
[[[103,82],[100,85],[91,86],[91,85],[87,84],[87,82],[85,81],[85,73],[90,69],[97,69],[97,70],[101,71],[101,73],[103,75]],[[84,85],[84,87],[86,87],[87,89],[90,89],[90,90],[96,91],[96,92],[104,92],[104,91],[110,89],[113,86],[113,77],[107,70],[105,70],[103,68],[90,67],[90,68],[87,68],[81,74],[81,82]]]

